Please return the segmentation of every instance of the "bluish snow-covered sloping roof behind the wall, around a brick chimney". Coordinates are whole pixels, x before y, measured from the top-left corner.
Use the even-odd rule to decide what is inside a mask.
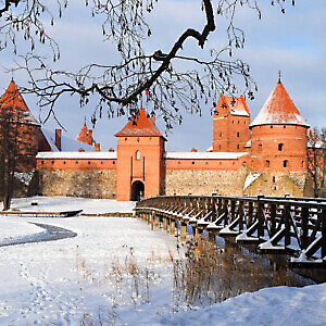
[[[53,150],[53,152],[58,152],[58,148],[55,146],[55,134],[54,131],[49,131],[47,129],[41,129],[41,131],[43,133],[47,141],[49,142],[51,149]],[[74,152],[74,151],[78,151],[79,149],[83,149],[85,152],[93,152],[95,151],[95,147],[87,145],[85,142],[78,141],[78,140],[74,140],[64,136],[61,136],[61,151],[63,152]]]

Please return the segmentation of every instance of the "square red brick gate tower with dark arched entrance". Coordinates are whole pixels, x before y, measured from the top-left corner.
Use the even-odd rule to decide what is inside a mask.
[[[143,109],[118,131],[116,199],[139,200],[164,193],[165,138]]]

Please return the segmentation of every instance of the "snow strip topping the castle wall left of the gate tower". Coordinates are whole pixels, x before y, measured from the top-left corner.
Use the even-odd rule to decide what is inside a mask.
[[[116,152],[39,152],[36,159],[116,160]]]

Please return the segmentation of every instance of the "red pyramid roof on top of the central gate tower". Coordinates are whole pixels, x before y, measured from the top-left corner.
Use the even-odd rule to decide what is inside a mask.
[[[153,122],[147,116],[143,109],[140,109],[136,116],[130,120],[117,134],[116,137],[127,136],[158,136],[163,137],[162,134],[156,129]]]

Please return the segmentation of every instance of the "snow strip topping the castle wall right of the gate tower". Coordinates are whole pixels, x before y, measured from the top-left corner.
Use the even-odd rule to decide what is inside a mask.
[[[166,152],[165,159],[237,160],[247,154],[247,152]]]

